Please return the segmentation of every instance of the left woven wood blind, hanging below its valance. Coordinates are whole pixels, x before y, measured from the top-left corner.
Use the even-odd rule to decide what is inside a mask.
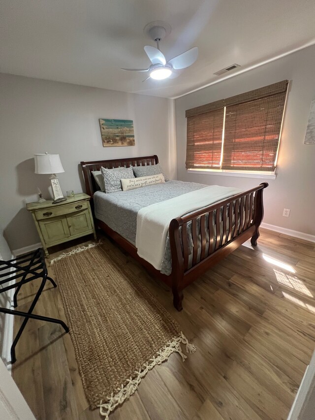
[[[220,169],[224,108],[187,118],[186,168]]]

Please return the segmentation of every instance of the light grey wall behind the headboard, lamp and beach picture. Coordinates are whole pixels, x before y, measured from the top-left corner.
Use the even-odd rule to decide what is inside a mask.
[[[0,225],[11,249],[39,242],[26,201],[48,198],[49,179],[34,174],[34,153],[59,153],[63,193],[82,192],[80,161],[157,154],[175,176],[168,99],[0,74]],[[135,146],[102,147],[98,118],[134,122]]]

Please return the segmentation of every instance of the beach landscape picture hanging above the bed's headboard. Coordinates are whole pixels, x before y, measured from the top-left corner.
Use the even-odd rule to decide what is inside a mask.
[[[132,120],[99,119],[103,147],[134,146]]]

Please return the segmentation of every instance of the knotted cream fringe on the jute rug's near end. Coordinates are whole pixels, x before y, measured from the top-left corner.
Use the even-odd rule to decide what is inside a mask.
[[[196,347],[193,344],[190,344],[185,337],[185,335],[181,332],[181,335],[177,338],[174,338],[173,341],[168,341],[167,344],[158,351],[156,356],[153,356],[152,359],[149,360],[141,369],[135,371],[135,377],[132,379],[131,377],[127,380],[127,384],[125,386],[121,386],[118,389],[117,393],[112,393],[111,396],[107,397],[107,402],[100,402],[97,406],[99,407],[99,413],[101,416],[105,417],[105,420],[108,420],[109,414],[115,410],[115,408],[119,404],[123,404],[134,392],[138,389],[141,379],[146,376],[149,370],[153,369],[156,365],[162,364],[168,357],[176,352],[182,356],[183,361],[187,358],[187,355],[184,355],[182,352],[181,344],[186,345],[186,352],[187,353],[194,353],[196,351]]]

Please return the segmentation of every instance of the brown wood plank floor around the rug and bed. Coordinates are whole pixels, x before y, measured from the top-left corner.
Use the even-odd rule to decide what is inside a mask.
[[[149,372],[111,420],[287,418],[315,348],[314,243],[261,229],[255,249],[246,243],[184,291],[180,313],[166,286],[124,258],[197,352],[184,363],[172,355]],[[18,309],[28,308],[34,291],[35,284],[21,290]],[[46,287],[36,313],[65,320],[58,288]],[[36,419],[101,419],[88,407],[70,335],[59,325],[30,320],[17,360],[13,378]]]

